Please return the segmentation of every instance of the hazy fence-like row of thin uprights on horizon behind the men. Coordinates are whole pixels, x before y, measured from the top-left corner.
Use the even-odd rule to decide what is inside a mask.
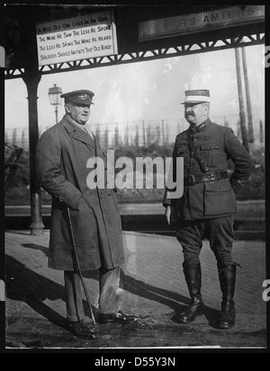
[[[211,118],[217,124],[232,128],[241,141],[241,129],[238,115],[218,116]],[[265,145],[265,119],[253,117],[253,137],[255,146]],[[40,127],[40,135],[48,129]],[[185,119],[182,120],[140,120],[129,122],[91,123],[95,137],[104,149],[118,146],[144,146],[151,144],[166,146],[175,142],[175,136],[188,128]],[[250,135],[250,130],[247,134]],[[9,144],[21,146],[24,151],[29,149],[29,129],[5,128],[4,139]]]

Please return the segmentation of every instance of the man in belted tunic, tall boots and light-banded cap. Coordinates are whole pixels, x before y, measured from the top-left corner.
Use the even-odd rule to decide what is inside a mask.
[[[183,104],[190,128],[175,138],[173,163],[175,173],[175,158],[184,157],[184,193],[180,199],[169,199],[166,189],[163,200],[167,223],[175,216],[176,238],[183,248],[184,278],[191,296],[191,305],[177,315],[176,321],[188,323],[202,314],[199,255],[206,237],[217,261],[222,293],[217,325],[227,329],[235,324],[237,264],[231,254],[234,216],[238,211],[235,193],[243,188],[255,166],[232,129],[209,119],[208,90],[186,91]],[[234,167],[230,177],[229,160]]]

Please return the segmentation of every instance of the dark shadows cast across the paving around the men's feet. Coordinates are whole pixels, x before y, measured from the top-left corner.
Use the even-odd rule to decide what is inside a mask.
[[[40,250],[45,254],[48,249],[41,245],[32,243],[24,243],[23,247]],[[45,278],[40,274],[25,267],[20,261],[15,260],[13,257],[5,256],[5,274],[6,274],[6,296],[14,302],[23,302],[29,305],[35,312],[47,318],[60,327],[67,329],[66,318],[52,310],[43,301],[49,299],[50,301],[62,300],[65,302],[64,287],[49,278]],[[89,271],[84,273],[85,278],[98,279],[98,271]],[[121,287],[135,296],[147,298],[148,300],[155,301],[161,305],[174,310],[175,315],[184,310],[185,305],[188,305],[189,299],[181,296],[173,291],[169,291],[160,287],[154,287],[147,283],[132,278],[121,271]],[[88,305],[84,300],[85,314],[91,317]],[[97,308],[93,306],[94,314],[97,313]],[[205,308],[205,315],[209,323],[213,323],[214,318],[218,312],[209,307]],[[175,322],[175,315],[171,318]],[[12,310],[7,313],[8,323],[16,321],[18,316]]]

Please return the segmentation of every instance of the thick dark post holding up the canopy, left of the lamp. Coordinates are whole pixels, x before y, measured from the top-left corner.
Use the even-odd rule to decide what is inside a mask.
[[[44,225],[41,215],[41,189],[37,181],[36,173],[36,146],[39,140],[38,125],[38,85],[40,72],[35,68],[25,68],[23,81],[28,92],[29,109],[29,157],[30,157],[30,201],[31,201],[31,234],[42,234]]]

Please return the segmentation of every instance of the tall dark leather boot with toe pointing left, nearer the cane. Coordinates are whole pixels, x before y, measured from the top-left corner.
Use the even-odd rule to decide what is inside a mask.
[[[183,313],[178,315],[175,321],[180,323],[189,323],[192,322],[197,315],[202,314],[203,310],[201,295],[202,270],[200,262],[196,265],[189,265],[184,262],[183,269],[184,278],[188,287],[189,295],[192,299],[192,303]]]

